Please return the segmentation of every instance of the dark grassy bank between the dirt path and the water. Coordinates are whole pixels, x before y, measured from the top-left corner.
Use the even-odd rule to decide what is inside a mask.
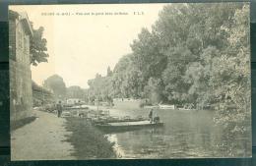
[[[67,130],[72,132],[67,141],[75,147],[73,153],[78,159],[115,158],[113,143],[110,143],[100,131],[97,131],[83,118],[66,118]]]

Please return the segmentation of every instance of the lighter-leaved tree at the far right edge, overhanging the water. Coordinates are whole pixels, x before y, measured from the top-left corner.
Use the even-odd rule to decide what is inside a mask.
[[[220,99],[215,121],[233,134],[248,133],[250,123],[249,6],[235,10],[228,28],[228,44],[221,58],[213,60],[211,85]]]

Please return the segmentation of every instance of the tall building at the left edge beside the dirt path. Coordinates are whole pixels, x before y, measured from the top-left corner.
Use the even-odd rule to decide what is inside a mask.
[[[27,14],[9,11],[11,122],[32,115],[31,37],[32,26]]]

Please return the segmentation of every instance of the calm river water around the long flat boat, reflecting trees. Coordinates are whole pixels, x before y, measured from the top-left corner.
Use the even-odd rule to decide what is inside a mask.
[[[110,109],[113,116],[142,115],[149,109]],[[213,122],[213,111],[155,110],[163,128],[108,135],[120,158],[244,157],[251,154],[249,136],[227,137]]]

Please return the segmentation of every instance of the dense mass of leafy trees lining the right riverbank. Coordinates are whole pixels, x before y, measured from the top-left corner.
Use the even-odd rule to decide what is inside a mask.
[[[111,75],[89,82],[88,96],[216,110],[217,124],[249,131],[249,36],[248,4],[166,5]]]

